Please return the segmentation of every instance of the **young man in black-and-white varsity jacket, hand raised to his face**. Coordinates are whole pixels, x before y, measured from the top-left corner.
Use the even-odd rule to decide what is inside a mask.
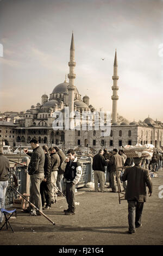
[[[64,162],[61,164],[62,170],[64,170],[64,182],[66,183],[66,200],[68,204],[68,209],[64,210],[65,215],[76,214],[76,205],[75,205],[75,190],[76,184],[78,184],[82,176],[82,167],[80,162],[75,157],[75,151],[69,149],[67,151],[67,157]]]

